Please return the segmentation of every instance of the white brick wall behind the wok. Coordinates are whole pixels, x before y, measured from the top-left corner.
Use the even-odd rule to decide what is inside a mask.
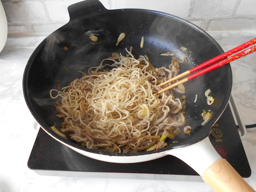
[[[9,33],[51,33],[69,20],[67,7],[81,0],[1,0]],[[256,0],[100,0],[107,9],[166,12],[207,31],[256,30]]]

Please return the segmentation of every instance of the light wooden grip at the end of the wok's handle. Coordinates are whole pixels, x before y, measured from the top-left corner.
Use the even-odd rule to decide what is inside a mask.
[[[219,159],[202,175],[216,192],[255,192],[225,159]]]

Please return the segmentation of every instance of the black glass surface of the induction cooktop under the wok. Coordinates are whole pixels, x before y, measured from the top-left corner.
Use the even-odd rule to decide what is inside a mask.
[[[229,106],[212,126],[209,139],[221,157],[242,177],[250,177],[250,165]],[[84,172],[88,175],[91,172],[198,175],[182,160],[171,155],[143,163],[122,164],[94,160],[54,140],[41,128],[32,148],[28,167],[33,170]]]

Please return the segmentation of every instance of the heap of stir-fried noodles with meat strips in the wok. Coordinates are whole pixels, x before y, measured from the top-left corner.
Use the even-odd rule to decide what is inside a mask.
[[[154,68],[147,55],[136,59],[131,50],[125,53],[80,72],[67,87],[50,90],[63,119],[53,131],[87,148],[120,153],[163,148],[181,131],[190,134],[184,86],[156,94],[157,84],[177,76],[187,60],[172,57],[169,67]]]

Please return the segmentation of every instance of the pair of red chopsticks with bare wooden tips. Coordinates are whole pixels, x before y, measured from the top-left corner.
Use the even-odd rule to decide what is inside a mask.
[[[250,47],[251,45],[254,45],[254,44],[256,44],[256,38],[254,38],[254,39],[252,39],[252,40],[250,40],[250,41],[247,41],[246,43],[241,44],[241,45],[239,45],[238,47],[235,47],[234,49],[231,49],[231,50],[229,50],[229,51],[227,51],[227,52],[224,52],[223,54],[218,55],[217,57],[212,58],[212,59],[210,59],[209,61],[206,61],[206,62],[204,62],[203,64],[200,64],[200,65],[198,65],[198,66],[196,66],[196,67],[194,67],[194,68],[192,68],[192,69],[190,69],[190,70],[188,70],[188,71],[186,71],[186,72],[184,72],[184,73],[181,73],[180,75],[175,76],[175,77],[172,78],[172,79],[169,79],[169,80],[167,80],[167,81],[164,81],[163,83],[159,84],[159,86],[163,86],[163,85],[165,85],[165,84],[167,84],[167,83],[170,83],[170,82],[172,82],[172,81],[175,81],[175,80],[177,80],[177,79],[180,79],[181,77],[187,76],[187,75],[189,75],[189,74],[191,74],[191,73],[193,73],[193,72],[195,72],[195,71],[197,71],[197,70],[200,70],[200,69],[206,67],[206,68],[204,68],[203,70],[198,71],[197,73],[194,73],[194,74],[192,74],[192,75],[190,75],[190,76],[187,76],[187,77],[184,78],[184,79],[181,79],[180,81],[177,81],[177,82],[175,82],[175,83],[173,83],[173,84],[171,84],[171,85],[169,85],[169,86],[167,86],[167,87],[164,87],[163,89],[157,91],[157,94],[163,93],[164,91],[169,90],[169,89],[171,89],[172,87],[176,87],[176,86],[179,85],[179,84],[182,84],[182,83],[184,83],[184,82],[186,82],[186,81],[189,81],[189,80],[191,80],[191,79],[194,79],[195,77],[201,76],[201,75],[204,74],[204,73],[207,73],[207,72],[209,72],[209,71],[211,71],[211,70],[215,70],[215,69],[218,68],[218,67],[221,67],[221,66],[223,66],[223,65],[225,65],[225,64],[228,64],[228,63],[230,63],[230,62],[232,62],[232,61],[235,61],[235,60],[237,60],[237,59],[239,59],[239,58],[241,58],[241,57],[244,57],[244,56],[246,56],[246,55],[249,55],[249,54],[252,53],[252,52],[255,52],[255,51],[256,51],[256,46]],[[248,48],[248,47],[249,47],[249,48]],[[246,49],[246,48],[247,48],[247,49]],[[245,49],[245,50],[244,50],[244,49]],[[241,51],[241,50],[243,50],[243,51]],[[239,51],[241,51],[241,52],[239,52]],[[236,52],[239,52],[239,53],[236,53]],[[236,54],[233,55],[234,53],[236,53]],[[230,55],[232,55],[232,56],[230,56]],[[230,56],[230,57],[228,57],[228,56]],[[228,57],[228,58],[227,58],[227,57]],[[222,59],[223,59],[223,60],[222,60]],[[221,61],[220,61],[220,60],[221,60]],[[218,62],[218,61],[219,61],[219,62]],[[218,62],[218,63],[216,63],[216,62]],[[215,63],[215,64],[214,64],[214,63]],[[211,65],[211,64],[212,64],[212,65]],[[211,65],[211,66],[209,66],[209,65]],[[207,66],[209,66],[209,67],[207,67]]]

